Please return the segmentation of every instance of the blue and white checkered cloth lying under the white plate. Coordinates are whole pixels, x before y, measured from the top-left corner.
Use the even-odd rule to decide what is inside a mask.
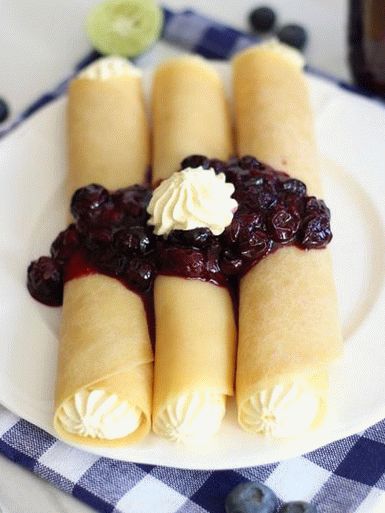
[[[163,37],[167,41],[205,57],[228,58],[255,42],[251,36],[193,11],[165,10],[165,18]],[[96,57],[95,53],[88,55],[75,73]],[[0,136],[63,94],[70,78],[39,98],[0,131]],[[67,446],[0,406],[0,452],[103,513],[223,513],[226,495],[247,480],[270,486],[281,503],[311,501],[320,513],[385,512],[385,420],[363,433],[284,462],[195,471],[89,454]]]

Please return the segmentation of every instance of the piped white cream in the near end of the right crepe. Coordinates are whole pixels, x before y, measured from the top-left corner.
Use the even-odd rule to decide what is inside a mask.
[[[279,384],[245,401],[239,421],[252,433],[287,438],[308,430],[320,411],[320,398],[305,383]]]

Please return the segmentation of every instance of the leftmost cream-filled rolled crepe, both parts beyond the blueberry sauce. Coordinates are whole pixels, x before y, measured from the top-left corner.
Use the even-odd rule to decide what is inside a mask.
[[[149,141],[142,109],[140,77],[123,59],[102,59],[75,79],[69,91],[70,189],[144,180]],[[102,274],[68,281],[55,395],[60,437],[98,446],[142,438],[151,425],[152,361],[137,294]]]

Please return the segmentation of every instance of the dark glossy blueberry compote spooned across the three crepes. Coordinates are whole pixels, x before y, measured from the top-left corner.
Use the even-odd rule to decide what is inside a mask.
[[[114,192],[91,184],[72,197],[74,223],[59,233],[51,256],[28,267],[31,295],[47,305],[62,303],[65,281],[87,274],[113,276],[144,299],[157,274],[182,276],[236,287],[269,253],[294,244],[324,248],[331,240],[330,211],[308,196],[306,185],[251,156],[228,162],[191,155],[181,168],[212,167],[235,186],[232,223],[219,235],[208,228],[174,230],[167,239],[147,225],[150,186]]]

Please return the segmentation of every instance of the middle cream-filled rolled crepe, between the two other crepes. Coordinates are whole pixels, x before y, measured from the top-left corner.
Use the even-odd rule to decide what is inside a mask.
[[[202,59],[162,65],[153,84],[153,180],[167,178],[191,153],[227,158],[230,123],[224,92]],[[153,430],[200,442],[216,432],[233,395],[236,328],[226,288],[180,277],[155,280]]]

